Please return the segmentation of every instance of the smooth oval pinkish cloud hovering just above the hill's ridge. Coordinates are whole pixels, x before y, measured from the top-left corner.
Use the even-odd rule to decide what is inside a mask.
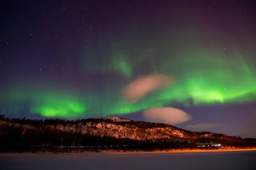
[[[169,107],[147,109],[143,112],[143,116],[148,122],[161,122],[172,125],[187,122],[191,119],[191,116],[186,112]]]

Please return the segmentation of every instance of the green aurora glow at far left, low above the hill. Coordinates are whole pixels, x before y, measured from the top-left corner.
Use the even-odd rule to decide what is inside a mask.
[[[86,111],[84,101],[70,94],[61,94],[60,91],[17,91],[8,93],[8,95],[11,102],[2,101],[6,105],[3,109],[4,114],[17,114],[25,111],[24,105],[29,106],[30,113],[41,114],[45,117],[76,118],[83,116]]]

